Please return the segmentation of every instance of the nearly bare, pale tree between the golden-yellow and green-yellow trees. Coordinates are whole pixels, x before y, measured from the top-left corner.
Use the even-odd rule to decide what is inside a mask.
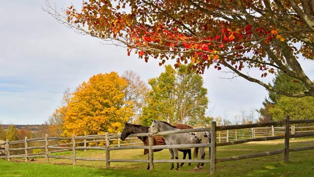
[[[142,115],[142,108],[146,106],[145,96],[149,90],[148,86],[138,74],[131,70],[125,71],[122,78],[128,82],[128,87],[124,89],[125,101],[133,104],[134,116],[129,118],[129,122],[140,123],[139,117]]]

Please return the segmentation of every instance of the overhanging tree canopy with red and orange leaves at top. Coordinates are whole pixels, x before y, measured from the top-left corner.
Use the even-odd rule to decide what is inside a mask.
[[[190,63],[199,73],[209,65],[268,90],[290,96],[314,96],[314,82],[300,60],[314,59],[313,0],[89,0],[76,8],[48,11],[60,23],[127,47],[148,61]],[[265,77],[282,70],[299,79],[305,91],[287,93],[247,73]]]

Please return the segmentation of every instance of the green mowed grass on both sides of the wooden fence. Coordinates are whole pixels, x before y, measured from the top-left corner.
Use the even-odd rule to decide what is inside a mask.
[[[290,148],[314,146],[314,138],[290,140]],[[217,148],[217,158],[230,157],[270,151],[284,148],[284,141],[251,142],[241,145],[224,146]],[[62,152],[58,155],[71,156],[72,153]],[[182,158],[183,153],[180,152]],[[77,151],[78,157],[104,158],[104,150]],[[111,159],[147,159],[142,149],[110,151]],[[154,159],[169,159],[167,149],[154,153]],[[206,150],[209,158],[209,150]],[[313,177],[314,150],[290,152],[290,162],[283,163],[283,154],[266,157],[251,158],[217,164],[217,177]],[[147,163],[120,162],[110,163],[110,169],[105,168],[105,162],[77,161],[53,159],[45,163],[43,158],[24,162],[24,159],[12,159],[8,162],[0,159],[0,177],[210,177],[209,164],[204,169],[193,171],[196,163],[191,166],[184,164],[179,171],[171,171],[170,163],[156,163],[155,170],[145,170]]]

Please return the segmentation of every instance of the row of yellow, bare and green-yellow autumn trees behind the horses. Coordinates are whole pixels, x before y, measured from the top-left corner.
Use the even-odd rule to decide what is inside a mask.
[[[124,122],[149,125],[152,119],[207,126],[207,89],[202,76],[182,65],[152,78],[147,85],[133,71],[97,74],[71,93],[46,122],[50,136],[117,133]]]

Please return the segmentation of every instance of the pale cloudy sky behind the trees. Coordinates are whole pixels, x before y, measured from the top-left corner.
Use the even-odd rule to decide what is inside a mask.
[[[50,2],[57,9],[73,3],[70,0]],[[74,5],[80,3],[78,0]],[[128,57],[126,48],[104,45],[97,38],[75,33],[45,12],[42,9],[45,7],[45,0],[1,2],[0,123],[44,123],[61,105],[64,90],[74,91],[83,81],[99,73],[122,74],[132,70],[147,82],[164,71],[157,59],[146,63],[135,54]],[[304,70],[314,80],[313,62],[303,63]],[[262,86],[239,77],[222,79],[228,77],[213,68],[205,71],[207,115],[234,121],[241,110],[249,113],[262,107],[267,96]],[[263,81],[267,83],[271,77]],[[255,118],[258,118],[257,112]]]

